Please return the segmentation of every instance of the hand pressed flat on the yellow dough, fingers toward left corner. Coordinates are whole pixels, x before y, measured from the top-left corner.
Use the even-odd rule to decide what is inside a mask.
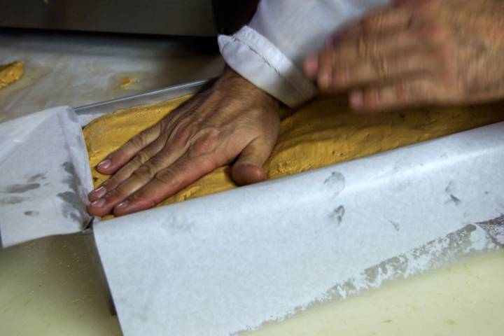
[[[240,185],[266,179],[262,165],[279,132],[278,102],[234,71],[100,162],[113,174],[90,195],[94,216],[153,207],[235,158]]]

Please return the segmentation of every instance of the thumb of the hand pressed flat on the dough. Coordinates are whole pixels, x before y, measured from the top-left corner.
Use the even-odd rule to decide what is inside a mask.
[[[266,179],[262,165],[271,154],[273,146],[264,139],[256,138],[241,152],[231,170],[232,179],[239,186],[258,183]]]

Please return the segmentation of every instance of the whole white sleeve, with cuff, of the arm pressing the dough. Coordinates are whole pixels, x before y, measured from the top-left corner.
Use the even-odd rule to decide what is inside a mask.
[[[218,36],[226,63],[254,85],[295,107],[317,94],[302,73],[305,55],[330,32],[388,0],[262,0],[251,22]]]

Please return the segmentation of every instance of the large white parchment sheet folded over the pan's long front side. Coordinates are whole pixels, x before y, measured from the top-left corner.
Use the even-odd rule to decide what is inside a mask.
[[[498,123],[99,223],[123,332],[229,335],[365,287],[364,270],[500,217],[503,165]]]

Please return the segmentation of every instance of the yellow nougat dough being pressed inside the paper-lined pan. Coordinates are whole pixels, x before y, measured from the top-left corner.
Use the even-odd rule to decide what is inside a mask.
[[[116,111],[84,129],[94,186],[107,179],[94,167],[141,130],[158,122],[188,97]],[[381,114],[352,113],[342,97],[311,102],[280,126],[279,140],[265,163],[269,179],[332,165],[418,141],[504,120],[504,104],[478,108],[416,109]],[[160,205],[235,188],[230,167],[192,183]]]

